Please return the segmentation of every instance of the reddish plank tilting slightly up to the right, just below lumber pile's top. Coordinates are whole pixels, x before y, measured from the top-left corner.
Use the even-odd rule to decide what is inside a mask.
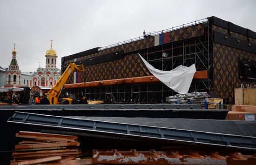
[[[55,143],[25,144],[25,145],[15,145],[15,150],[31,149],[31,148],[79,146],[79,145],[80,145],[80,142],[55,142]]]

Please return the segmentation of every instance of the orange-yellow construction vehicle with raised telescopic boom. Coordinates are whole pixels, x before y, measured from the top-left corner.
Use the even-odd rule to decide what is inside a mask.
[[[72,99],[65,97],[60,98],[60,95],[62,87],[67,82],[69,76],[74,72],[84,72],[84,66],[76,65],[75,63],[70,63],[67,66],[65,72],[61,75],[55,86],[48,93],[46,93],[50,104],[71,104]]]

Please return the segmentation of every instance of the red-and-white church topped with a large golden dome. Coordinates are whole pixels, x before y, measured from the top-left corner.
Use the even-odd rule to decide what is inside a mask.
[[[47,93],[61,77],[61,70],[56,68],[57,53],[53,49],[51,40],[51,47],[46,52],[46,65],[45,68],[39,67],[32,75],[32,79],[29,82],[31,92],[38,92],[40,95]]]

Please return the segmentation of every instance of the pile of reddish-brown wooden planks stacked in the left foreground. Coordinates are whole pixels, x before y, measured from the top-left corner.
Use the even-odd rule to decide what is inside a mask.
[[[16,137],[30,140],[15,145],[11,165],[67,164],[81,156],[77,136],[20,131]]]

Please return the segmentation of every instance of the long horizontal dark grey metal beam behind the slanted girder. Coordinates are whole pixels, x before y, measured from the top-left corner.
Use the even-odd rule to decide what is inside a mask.
[[[7,112],[5,112],[7,111]],[[99,116],[128,118],[183,118],[183,119],[225,119],[228,110],[203,110],[201,105],[29,105],[0,106],[2,113],[14,111],[50,114],[56,116]],[[8,117],[9,117],[8,116]]]

